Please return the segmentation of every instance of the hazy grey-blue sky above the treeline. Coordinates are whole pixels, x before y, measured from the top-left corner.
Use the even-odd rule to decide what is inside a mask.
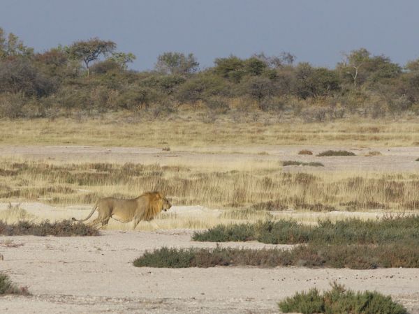
[[[418,12],[417,0],[1,0],[0,27],[36,51],[113,40],[137,56],[135,70],[166,51],[193,52],[201,68],[262,51],[333,67],[359,47],[402,64],[417,59]]]

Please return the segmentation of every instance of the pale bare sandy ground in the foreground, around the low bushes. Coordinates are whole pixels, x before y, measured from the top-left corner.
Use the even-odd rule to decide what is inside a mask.
[[[411,313],[419,313],[418,269],[153,269],[131,264],[146,250],[161,246],[215,246],[193,242],[191,234],[165,230],[105,231],[99,237],[0,237],[0,270],[19,285],[28,285],[33,294],[1,297],[0,313],[277,313],[280,299],[310,287],[328,289],[332,281],[391,294]],[[4,241],[23,246],[7,247]]]

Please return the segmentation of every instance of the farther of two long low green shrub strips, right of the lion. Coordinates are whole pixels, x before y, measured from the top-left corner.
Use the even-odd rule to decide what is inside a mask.
[[[195,241],[258,241],[267,244],[385,244],[417,241],[419,216],[387,217],[381,220],[352,218],[318,225],[303,225],[293,220],[267,221],[256,224],[217,225],[205,232],[195,232]],[[247,240],[246,240],[247,239]]]

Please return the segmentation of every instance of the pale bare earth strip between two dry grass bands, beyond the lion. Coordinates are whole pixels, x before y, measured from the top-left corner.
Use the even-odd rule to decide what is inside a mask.
[[[313,151],[313,156],[298,155],[301,149]],[[357,156],[316,157],[328,149],[349,150]],[[369,151],[379,151],[381,156],[367,157]],[[162,151],[157,148],[140,147],[92,147],[92,146],[0,146],[0,156],[22,159],[50,159],[57,162],[110,162],[110,163],[159,163],[182,165],[189,163],[244,165],[251,161],[278,162],[280,160],[318,161],[325,167],[309,167],[316,171],[386,171],[407,172],[419,170],[419,147],[359,148],[328,146],[261,146],[261,147],[210,147],[205,149],[179,148]],[[286,167],[293,171],[300,167]]]

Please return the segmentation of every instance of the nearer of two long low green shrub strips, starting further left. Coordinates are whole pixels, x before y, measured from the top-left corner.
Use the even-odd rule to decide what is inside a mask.
[[[413,244],[380,246],[301,245],[291,250],[264,248],[159,248],[133,262],[137,267],[333,267],[375,269],[377,267],[419,267],[419,248]]]

